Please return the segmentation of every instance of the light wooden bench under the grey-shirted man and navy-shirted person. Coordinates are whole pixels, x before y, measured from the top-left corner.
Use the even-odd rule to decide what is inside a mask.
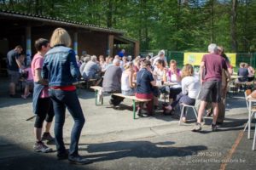
[[[102,90],[102,87],[100,86],[91,86],[90,88],[94,89],[95,92],[96,92],[96,100],[95,100],[95,105],[99,105],[97,103],[97,97],[98,97],[98,92],[100,90]],[[150,101],[151,99],[138,99],[136,96],[126,96],[124,94],[112,94],[112,95],[115,95],[115,96],[119,96],[119,97],[122,97],[124,99],[131,99],[132,100],[132,110],[133,110],[133,119],[136,118],[136,103],[139,103],[139,102],[148,102]],[[103,105],[103,96],[101,98],[101,103]]]

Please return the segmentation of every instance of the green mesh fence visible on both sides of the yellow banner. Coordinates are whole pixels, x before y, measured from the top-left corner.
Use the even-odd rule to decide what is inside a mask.
[[[171,50],[165,50],[166,51],[166,58],[169,63],[171,59],[175,59],[177,61],[177,66],[182,67],[183,66],[183,59],[184,59],[184,52],[180,51],[171,51]],[[147,51],[145,53],[151,53],[156,55],[158,53],[158,50],[152,50]],[[256,53],[236,53],[236,67],[239,67],[239,64],[241,62],[245,62],[249,65],[252,65],[254,68],[256,67]]]

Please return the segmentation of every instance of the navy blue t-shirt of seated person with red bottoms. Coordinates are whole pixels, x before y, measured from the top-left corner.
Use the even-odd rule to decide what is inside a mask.
[[[150,71],[143,68],[137,72],[137,94],[151,94],[153,87],[150,82],[154,81],[154,77]]]

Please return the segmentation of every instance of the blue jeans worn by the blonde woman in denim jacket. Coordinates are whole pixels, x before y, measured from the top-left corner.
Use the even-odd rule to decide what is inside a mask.
[[[66,107],[74,120],[71,133],[71,142],[69,148],[69,156],[78,156],[79,154],[79,138],[84,126],[84,113],[79,103],[76,91],[62,91],[49,89],[49,95],[53,102],[55,111],[55,143],[58,153],[66,151],[63,142],[63,126],[65,122]]]

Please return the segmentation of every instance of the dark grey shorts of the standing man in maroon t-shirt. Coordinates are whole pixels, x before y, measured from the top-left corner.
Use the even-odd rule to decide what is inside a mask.
[[[201,87],[199,99],[202,101],[219,103],[221,101],[221,81],[204,82]]]

